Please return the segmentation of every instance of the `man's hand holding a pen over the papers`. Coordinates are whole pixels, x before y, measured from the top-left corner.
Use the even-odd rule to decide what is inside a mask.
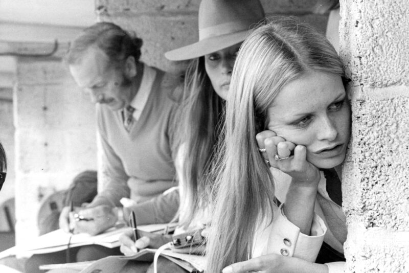
[[[118,220],[116,208],[106,205],[92,208],[76,208],[75,211],[81,218],[74,219],[69,207],[65,207],[61,211],[59,218],[60,228],[65,232],[70,231],[71,224],[74,226],[75,233],[97,235],[114,226]]]

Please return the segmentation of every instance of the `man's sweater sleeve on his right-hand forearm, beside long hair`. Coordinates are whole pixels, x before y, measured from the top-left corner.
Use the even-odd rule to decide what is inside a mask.
[[[170,188],[163,194],[146,202],[124,208],[124,217],[128,219],[130,211],[136,214],[138,224],[169,223],[179,208],[179,189]]]

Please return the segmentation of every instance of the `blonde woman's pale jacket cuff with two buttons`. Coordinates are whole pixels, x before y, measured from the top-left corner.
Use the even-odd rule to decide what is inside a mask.
[[[311,234],[305,235],[283,213],[283,204],[275,211],[272,229],[268,238],[267,253],[297,257],[314,262],[324,241],[327,227],[318,215],[314,215]]]

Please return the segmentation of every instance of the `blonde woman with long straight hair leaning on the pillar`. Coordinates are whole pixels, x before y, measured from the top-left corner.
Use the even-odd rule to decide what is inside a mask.
[[[314,211],[327,226],[322,210],[332,211],[325,241],[343,252],[341,207],[320,192],[330,180],[323,171],[339,173],[349,141],[351,112],[343,76],[328,40],[298,21],[271,21],[243,42],[226,104],[209,272],[333,268],[314,263],[321,244],[304,244],[304,238],[314,235]],[[278,208],[275,195],[283,194],[276,186],[283,177],[289,177],[289,186]],[[340,197],[340,188],[335,192]],[[282,229],[285,221],[298,230]],[[301,246],[306,247],[302,252],[297,250]]]

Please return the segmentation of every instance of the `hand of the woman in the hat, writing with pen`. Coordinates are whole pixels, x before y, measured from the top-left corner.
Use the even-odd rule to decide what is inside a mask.
[[[126,231],[119,237],[121,243],[120,250],[125,256],[131,256],[138,253],[139,249],[143,248],[158,248],[172,241],[171,235],[160,235],[149,232],[138,231],[142,237],[136,242],[132,240],[132,231]]]

